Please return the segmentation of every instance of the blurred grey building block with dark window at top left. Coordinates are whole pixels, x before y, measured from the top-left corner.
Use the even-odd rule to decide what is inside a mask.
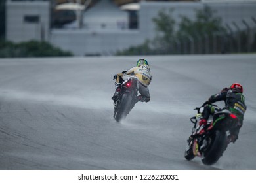
[[[50,41],[50,1],[7,0],[6,38],[8,41]]]

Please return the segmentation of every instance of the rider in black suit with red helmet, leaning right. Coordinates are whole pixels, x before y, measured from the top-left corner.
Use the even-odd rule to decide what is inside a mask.
[[[215,112],[217,112],[217,108],[214,108],[211,104],[217,101],[224,101],[225,107],[223,109],[226,108],[230,110],[230,112],[235,114],[240,120],[240,126],[236,129],[232,129],[232,131],[230,131],[230,135],[228,136],[228,142],[234,143],[238,139],[238,133],[242,127],[245,110],[247,108],[245,105],[245,97],[242,93],[243,86],[239,83],[234,83],[229,88],[223,88],[220,93],[211,95],[211,97],[209,97],[209,99],[203,104],[204,109],[202,112],[202,118],[199,121],[197,134],[203,135],[205,133],[207,120],[210,114],[213,115]]]

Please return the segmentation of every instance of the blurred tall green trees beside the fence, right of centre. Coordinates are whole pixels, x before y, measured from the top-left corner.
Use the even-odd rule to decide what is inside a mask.
[[[176,25],[173,19],[173,11],[173,8],[169,8],[169,10],[163,8],[158,12],[158,16],[152,19],[158,32],[152,41],[149,40],[142,45],[118,52],[118,54],[140,54],[142,48],[147,48],[145,46],[150,48],[148,54],[177,54],[181,53],[181,47],[184,49],[182,46],[184,41],[189,42],[188,37],[194,37],[196,40],[205,35],[209,37],[214,33],[226,33],[221,25],[221,18],[215,17],[215,12],[210,7],[205,6],[202,10],[196,10],[195,20],[181,16],[179,25]],[[190,47],[191,45],[186,44],[186,46]],[[198,50],[198,52],[200,51]]]

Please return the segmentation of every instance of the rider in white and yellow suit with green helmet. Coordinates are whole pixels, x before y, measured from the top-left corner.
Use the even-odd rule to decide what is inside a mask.
[[[116,79],[115,86],[116,90],[112,97],[114,103],[118,99],[121,90],[121,84],[129,79],[129,76],[136,76],[139,80],[139,93],[140,95],[137,97],[140,102],[148,102],[150,101],[150,93],[148,86],[152,80],[152,75],[150,73],[150,66],[148,65],[148,61],[146,59],[139,59],[137,61],[136,67],[131,67],[127,71],[123,71],[122,73],[118,73],[114,75],[114,79]]]

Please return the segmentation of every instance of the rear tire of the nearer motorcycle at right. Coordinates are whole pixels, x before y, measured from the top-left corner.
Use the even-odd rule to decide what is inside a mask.
[[[211,138],[211,144],[202,152],[201,159],[205,165],[213,165],[216,163],[226,149],[226,133],[217,130],[213,132]]]

